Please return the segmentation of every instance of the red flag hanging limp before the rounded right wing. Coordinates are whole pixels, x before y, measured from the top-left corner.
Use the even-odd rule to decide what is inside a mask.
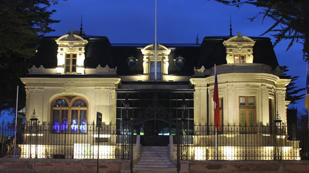
[[[214,86],[214,98],[215,102],[214,110],[215,110],[215,127],[218,131],[221,130],[221,123],[220,123],[220,110],[219,110],[219,90],[218,90],[218,79],[217,79],[217,70],[215,64],[215,86]]]

